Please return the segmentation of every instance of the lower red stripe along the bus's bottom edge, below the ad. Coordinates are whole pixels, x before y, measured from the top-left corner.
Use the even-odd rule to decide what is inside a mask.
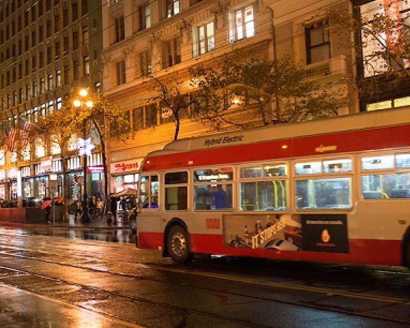
[[[140,248],[158,249],[158,247],[163,247],[163,233],[140,232],[138,236]],[[190,238],[191,250],[194,253],[265,257],[283,260],[401,265],[400,240],[350,239],[348,253],[324,253],[224,247],[222,235],[191,234]]]

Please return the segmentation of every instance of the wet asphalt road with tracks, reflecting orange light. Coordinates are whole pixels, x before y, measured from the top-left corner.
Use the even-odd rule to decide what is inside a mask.
[[[113,242],[115,241],[115,242]],[[0,226],[0,327],[406,327],[410,271],[212,258],[129,229]]]

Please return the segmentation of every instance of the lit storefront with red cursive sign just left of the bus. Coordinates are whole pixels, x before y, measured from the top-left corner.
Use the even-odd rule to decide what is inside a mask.
[[[126,188],[138,189],[139,168],[142,158],[111,163],[112,192]]]

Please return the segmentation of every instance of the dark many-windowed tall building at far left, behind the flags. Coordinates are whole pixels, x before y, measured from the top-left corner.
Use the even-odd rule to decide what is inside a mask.
[[[39,115],[61,106],[70,88],[101,89],[101,48],[101,6],[96,1],[0,0],[2,119],[11,127],[18,127],[18,117],[35,124]],[[50,173],[58,176],[54,195],[62,194],[61,151],[51,137],[36,139],[22,154],[0,150],[0,198],[17,197],[20,174],[26,199],[50,196]],[[74,153],[66,160],[70,184],[82,164]]]

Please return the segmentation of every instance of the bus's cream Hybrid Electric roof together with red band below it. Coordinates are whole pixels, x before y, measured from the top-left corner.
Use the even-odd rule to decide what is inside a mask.
[[[403,127],[393,129],[398,126]],[[410,146],[410,108],[180,139],[149,153],[142,171],[394,148],[398,144]]]

